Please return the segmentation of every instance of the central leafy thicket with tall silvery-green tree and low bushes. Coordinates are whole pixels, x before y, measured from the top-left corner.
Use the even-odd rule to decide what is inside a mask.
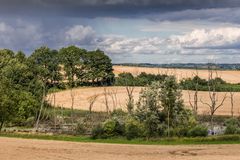
[[[93,138],[196,137],[207,136],[207,128],[197,125],[191,111],[184,108],[181,89],[175,77],[154,82],[142,90],[137,108],[125,115],[115,114],[93,129]]]

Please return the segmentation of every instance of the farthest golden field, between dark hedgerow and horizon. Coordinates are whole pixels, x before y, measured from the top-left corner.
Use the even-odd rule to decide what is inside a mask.
[[[171,69],[171,68],[147,68],[147,67],[129,67],[129,66],[113,66],[115,75],[123,72],[130,72],[133,75],[138,75],[141,72],[151,74],[168,74],[175,75],[178,80],[183,78],[193,77],[196,73],[195,69]],[[208,79],[208,70],[198,70],[198,76]],[[224,70],[218,71],[218,76],[229,83],[240,82],[240,71],[237,70]]]

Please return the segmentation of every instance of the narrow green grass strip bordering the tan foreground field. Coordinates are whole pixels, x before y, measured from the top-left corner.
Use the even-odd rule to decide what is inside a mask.
[[[192,144],[240,144],[240,135],[222,135],[197,138],[161,138],[161,139],[133,139],[127,140],[123,137],[111,139],[91,139],[88,136],[68,136],[68,135],[43,135],[43,134],[18,134],[0,133],[0,137],[57,140],[69,142],[92,142],[111,144],[140,144],[140,145],[192,145]]]

